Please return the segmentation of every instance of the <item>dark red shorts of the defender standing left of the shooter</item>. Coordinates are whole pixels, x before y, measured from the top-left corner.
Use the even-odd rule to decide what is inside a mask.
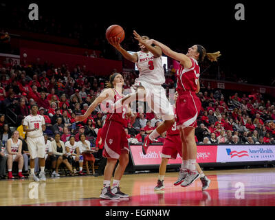
[[[124,126],[115,121],[107,121],[101,133],[104,144],[103,157],[118,159],[122,151],[129,153],[129,144]]]

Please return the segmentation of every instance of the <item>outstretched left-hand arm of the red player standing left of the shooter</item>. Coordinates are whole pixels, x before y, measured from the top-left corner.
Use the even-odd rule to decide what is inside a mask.
[[[76,122],[83,122],[86,118],[89,117],[89,115],[96,109],[98,104],[103,102],[104,100],[111,99],[114,97],[113,90],[112,89],[106,89],[94,100],[93,103],[90,104],[89,108],[85,112],[84,115],[77,115],[76,116]]]

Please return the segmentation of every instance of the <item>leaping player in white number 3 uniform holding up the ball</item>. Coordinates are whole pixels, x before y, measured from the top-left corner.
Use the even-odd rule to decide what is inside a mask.
[[[170,128],[175,122],[173,107],[166,98],[165,89],[162,84],[165,83],[164,68],[162,66],[162,49],[159,46],[147,45],[148,36],[140,36],[137,32],[133,31],[135,39],[139,41],[140,51],[135,54],[129,54],[124,50],[119,39],[110,39],[111,45],[118,50],[124,58],[137,64],[140,71],[140,76],[135,79],[133,85],[135,92],[129,94],[115,102],[113,109],[121,108],[121,105],[128,105],[135,100],[142,100],[148,102],[148,106],[157,114],[162,117],[164,122],[157,126],[150,135],[147,135],[144,143],[142,144],[142,152],[146,154],[149,144]]]

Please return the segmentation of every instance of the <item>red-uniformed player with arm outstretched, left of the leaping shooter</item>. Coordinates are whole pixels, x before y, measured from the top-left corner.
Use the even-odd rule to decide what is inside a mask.
[[[94,100],[89,106],[84,115],[76,116],[76,121],[82,122],[94,111],[98,104],[102,102],[117,102],[122,98],[122,85],[124,80],[121,74],[115,73],[110,76],[110,82],[108,83],[108,89],[102,91],[100,96]],[[131,113],[129,108],[122,106],[119,111],[111,111],[107,115],[106,122],[102,127],[102,142],[104,143],[103,157],[107,158],[107,165],[104,170],[103,189],[100,195],[102,199],[119,199],[126,198],[124,192],[120,191],[120,179],[124,173],[124,170],[129,162],[129,144],[126,138],[124,127],[127,126],[129,118],[131,123],[135,121],[135,116]],[[115,176],[113,179],[113,185],[111,188],[111,177],[116,162],[119,160],[119,164],[115,169]]]

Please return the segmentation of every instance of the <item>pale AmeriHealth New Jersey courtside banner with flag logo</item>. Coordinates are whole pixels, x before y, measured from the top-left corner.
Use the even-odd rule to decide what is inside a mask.
[[[219,145],[217,162],[253,162],[275,160],[274,145]]]

